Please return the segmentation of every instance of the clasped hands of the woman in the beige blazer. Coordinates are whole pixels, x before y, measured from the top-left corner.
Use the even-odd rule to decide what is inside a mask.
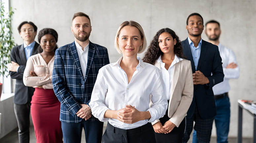
[[[164,126],[160,122],[153,125],[154,131],[156,133],[170,133],[174,129],[175,125],[170,121],[166,121]]]

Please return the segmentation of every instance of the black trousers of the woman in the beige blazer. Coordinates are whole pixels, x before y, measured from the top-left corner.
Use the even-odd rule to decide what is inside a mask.
[[[169,104],[169,101],[168,101]],[[165,124],[170,118],[168,117],[168,109],[165,112],[164,117],[160,118],[160,122],[162,125]],[[179,127],[174,127],[170,133],[156,133],[156,141],[157,143],[182,143],[182,138],[185,132],[186,127],[186,117],[181,121]]]

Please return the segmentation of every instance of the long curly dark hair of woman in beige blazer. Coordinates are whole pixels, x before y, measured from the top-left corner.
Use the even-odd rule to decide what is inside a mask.
[[[142,59],[144,62],[155,64],[159,56],[163,55],[163,52],[160,50],[160,47],[158,45],[158,38],[163,32],[169,33],[173,39],[176,39],[177,43],[174,45],[174,54],[177,55],[179,58],[185,58],[183,57],[183,48],[179,37],[175,34],[173,30],[169,28],[163,28],[157,32],[157,34],[151,41],[148,50],[146,51],[145,56]]]

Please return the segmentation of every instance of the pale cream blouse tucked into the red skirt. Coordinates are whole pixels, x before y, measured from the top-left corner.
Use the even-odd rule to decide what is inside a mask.
[[[43,86],[44,89],[53,89],[54,56],[47,64],[39,54],[28,58],[26,68],[23,73],[23,83],[25,86]],[[34,71],[37,76],[31,76],[30,71]]]

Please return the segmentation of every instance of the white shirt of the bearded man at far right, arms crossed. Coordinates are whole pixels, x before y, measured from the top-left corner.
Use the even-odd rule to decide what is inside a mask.
[[[212,87],[214,95],[219,95],[226,93],[230,90],[229,79],[238,79],[239,78],[239,67],[236,68],[226,68],[228,64],[234,62],[237,64],[236,56],[234,52],[219,44],[220,57],[222,59],[222,67],[224,73],[223,82],[218,83]]]

